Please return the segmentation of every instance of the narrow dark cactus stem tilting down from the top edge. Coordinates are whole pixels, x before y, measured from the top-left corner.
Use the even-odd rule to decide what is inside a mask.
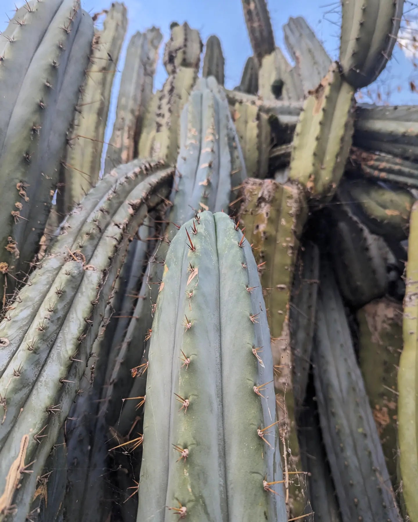
[[[254,56],[261,65],[266,54],[274,51],[274,35],[265,0],[242,0],[244,18]]]

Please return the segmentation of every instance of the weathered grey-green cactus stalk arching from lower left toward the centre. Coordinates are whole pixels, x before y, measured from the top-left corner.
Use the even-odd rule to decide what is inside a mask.
[[[28,515],[37,476],[72,406],[130,238],[148,208],[169,193],[173,170],[141,183],[150,169],[145,163],[124,175],[113,172],[86,196],[86,206],[65,223],[51,254],[33,272],[32,285],[21,290],[1,324],[0,520],[11,504],[17,506],[16,522]],[[21,443],[26,463],[34,460],[33,473],[16,493],[13,462]]]

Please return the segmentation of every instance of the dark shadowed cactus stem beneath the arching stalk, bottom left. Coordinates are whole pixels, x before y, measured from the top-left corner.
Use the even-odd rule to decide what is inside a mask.
[[[55,522],[63,510],[67,480],[67,446],[64,426],[45,462],[30,506],[30,518],[36,522]]]

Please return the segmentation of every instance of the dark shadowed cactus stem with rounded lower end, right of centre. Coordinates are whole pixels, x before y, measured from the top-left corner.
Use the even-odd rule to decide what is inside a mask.
[[[339,203],[339,204],[338,204]],[[388,247],[340,202],[332,206],[329,242],[341,293],[355,309],[385,295]]]

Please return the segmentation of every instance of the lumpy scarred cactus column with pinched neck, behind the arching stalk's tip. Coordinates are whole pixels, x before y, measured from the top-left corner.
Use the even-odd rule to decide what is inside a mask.
[[[140,158],[161,158],[168,164],[177,161],[180,116],[198,78],[203,47],[198,31],[187,23],[172,26],[164,52],[169,76],[149,103],[138,143]]]

